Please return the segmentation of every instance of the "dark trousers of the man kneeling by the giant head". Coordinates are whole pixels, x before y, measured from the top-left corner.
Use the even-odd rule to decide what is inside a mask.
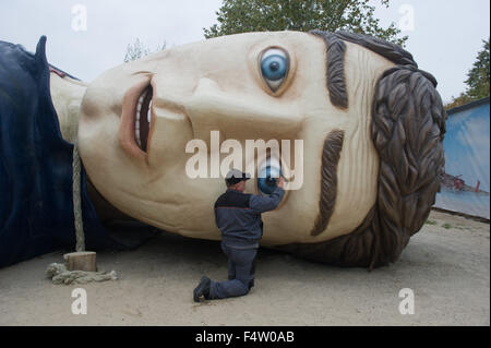
[[[228,257],[228,280],[212,280],[209,299],[247,295],[254,285],[254,261],[258,248],[239,249],[221,242],[221,250]]]

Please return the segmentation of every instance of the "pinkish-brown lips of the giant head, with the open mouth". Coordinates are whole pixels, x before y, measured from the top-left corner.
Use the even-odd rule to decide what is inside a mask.
[[[119,142],[131,156],[146,158],[154,89],[148,80],[131,87],[123,98]]]

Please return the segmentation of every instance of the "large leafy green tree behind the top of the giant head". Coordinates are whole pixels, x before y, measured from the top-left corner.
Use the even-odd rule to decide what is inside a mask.
[[[203,28],[206,38],[249,32],[321,29],[370,34],[404,46],[395,23],[387,28],[374,17],[372,0],[224,0],[218,24]],[[380,0],[388,8],[388,0]]]

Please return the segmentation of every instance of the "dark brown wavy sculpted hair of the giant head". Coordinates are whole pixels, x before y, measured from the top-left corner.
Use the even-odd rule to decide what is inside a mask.
[[[446,112],[435,89],[435,79],[418,70],[412,56],[400,47],[361,34],[312,34],[324,38],[326,44],[336,39],[359,44],[397,65],[379,79],[372,101],[371,137],[380,157],[374,206],[351,233],[324,242],[289,244],[282,249],[312,261],[372,269],[395,262],[409,238],[422,227],[430,214],[443,175]],[[330,52],[344,56],[344,50],[327,48],[327,55]],[[339,57],[327,56],[327,69],[330,61],[344,64]],[[331,75],[327,72],[327,79]],[[327,80],[327,85],[342,80],[344,77],[332,77],[331,82]],[[333,105],[344,107],[333,101],[332,88],[327,87]],[[343,91],[342,87],[336,88]],[[334,98],[343,99],[343,96]],[[321,170],[324,172],[325,168]],[[322,200],[321,194],[320,213],[324,215],[330,209],[322,211],[323,205],[328,205]],[[332,211],[326,220],[331,214]],[[315,228],[314,231],[318,232]]]

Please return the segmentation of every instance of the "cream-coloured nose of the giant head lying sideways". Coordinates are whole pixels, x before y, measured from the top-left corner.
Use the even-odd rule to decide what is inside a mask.
[[[185,103],[195,139],[209,143],[211,132],[224,139],[295,139],[303,122],[295,101],[277,99],[253,88],[220,87],[219,81],[200,79]]]

